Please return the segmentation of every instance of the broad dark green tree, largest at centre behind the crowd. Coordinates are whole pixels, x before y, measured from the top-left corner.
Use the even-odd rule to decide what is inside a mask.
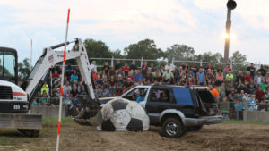
[[[165,53],[161,48],[157,48],[152,39],[144,39],[138,43],[131,44],[124,49],[126,58],[128,59],[158,59],[165,57]]]

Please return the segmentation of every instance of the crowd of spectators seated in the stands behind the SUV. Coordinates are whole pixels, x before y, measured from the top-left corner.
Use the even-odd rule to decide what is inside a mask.
[[[100,67],[101,66],[101,67]],[[56,106],[60,96],[61,68],[53,69],[51,83],[46,82],[41,88],[37,99],[32,105]],[[91,62],[91,73],[97,97],[120,96],[130,88],[140,85],[174,84],[180,86],[208,86],[213,95],[219,100],[222,113],[241,113],[243,110],[268,110],[266,102],[269,100],[269,72],[261,65],[258,70],[251,63],[246,71],[234,72],[230,64],[213,67],[211,63],[183,63],[175,66],[168,63],[143,62],[141,68],[135,61],[122,64],[119,60],[114,66],[108,62],[97,66]],[[50,81],[50,80],[49,80]],[[85,93],[82,77],[78,67],[71,63],[65,66],[64,104],[75,106],[74,97]],[[50,101],[48,101],[48,99]],[[267,100],[267,101],[266,101]]]

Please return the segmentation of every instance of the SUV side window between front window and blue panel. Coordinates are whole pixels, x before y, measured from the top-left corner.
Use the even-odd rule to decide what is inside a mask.
[[[169,102],[170,95],[169,90],[165,88],[152,88],[152,93],[150,94],[151,102]]]

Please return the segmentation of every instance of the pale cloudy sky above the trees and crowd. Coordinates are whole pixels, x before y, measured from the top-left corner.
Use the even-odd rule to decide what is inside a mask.
[[[239,50],[247,61],[269,64],[267,0],[236,0],[232,11],[230,55]],[[227,0],[0,0],[0,46],[13,47],[19,61],[33,64],[43,48],[68,40],[93,38],[111,50],[151,38],[166,50],[174,44],[195,48],[195,54],[224,53]],[[89,56],[91,57],[91,56]]]

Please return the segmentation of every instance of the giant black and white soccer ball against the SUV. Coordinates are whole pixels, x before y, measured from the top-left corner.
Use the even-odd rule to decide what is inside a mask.
[[[124,98],[115,98],[100,111],[101,130],[143,131],[148,130],[150,119],[142,105]]]

